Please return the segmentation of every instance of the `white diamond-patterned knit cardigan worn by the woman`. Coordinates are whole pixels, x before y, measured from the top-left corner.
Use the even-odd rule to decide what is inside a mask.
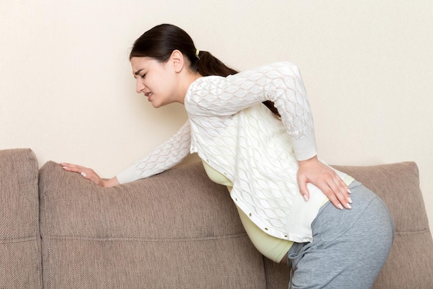
[[[281,120],[261,104],[265,100],[275,103]],[[147,177],[169,168],[189,146],[232,181],[232,199],[258,227],[277,238],[311,241],[311,222],[325,196],[308,184],[305,202],[297,186],[297,160],[316,155],[297,67],[278,62],[226,78],[199,78],[187,91],[185,108],[189,124],[130,168],[130,178],[134,170]]]

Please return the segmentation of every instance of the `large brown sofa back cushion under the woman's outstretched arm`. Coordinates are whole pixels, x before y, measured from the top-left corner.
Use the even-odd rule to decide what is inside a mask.
[[[44,288],[266,288],[228,191],[201,164],[103,189],[40,170]]]

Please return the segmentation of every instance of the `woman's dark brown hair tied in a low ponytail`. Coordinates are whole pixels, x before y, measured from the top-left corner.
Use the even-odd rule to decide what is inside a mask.
[[[134,57],[149,57],[167,62],[176,49],[190,61],[190,69],[202,76],[226,77],[238,73],[208,51],[199,51],[199,55],[196,55],[197,49],[190,35],[172,24],[160,24],[138,37],[129,53],[129,60]],[[279,116],[271,101],[265,101],[264,105]]]

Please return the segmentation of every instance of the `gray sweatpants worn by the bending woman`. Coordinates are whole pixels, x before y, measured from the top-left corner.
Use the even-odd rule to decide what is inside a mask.
[[[288,251],[289,288],[371,288],[394,240],[394,222],[380,198],[352,182],[352,209],[331,202],[313,221],[313,241]]]

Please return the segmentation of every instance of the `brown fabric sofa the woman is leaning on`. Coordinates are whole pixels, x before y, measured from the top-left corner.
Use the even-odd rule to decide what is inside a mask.
[[[338,166],[396,225],[374,288],[433,288],[433,241],[413,162]],[[201,164],[102,189],[29,149],[0,151],[0,288],[287,288]],[[374,246],[374,244],[371,244]]]

